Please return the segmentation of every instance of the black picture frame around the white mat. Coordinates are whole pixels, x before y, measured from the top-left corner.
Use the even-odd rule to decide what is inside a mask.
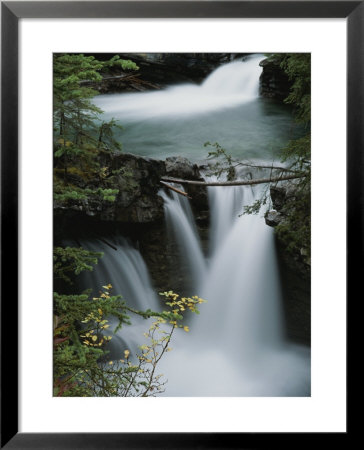
[[[277,439],[283,447],[306,444],[310,433],[18,433],[18,343],[13,337],[10,345],[7,337],[9,318],[11,335],[19,331],[14,320],[18,316],[18,21],[110,17],[347,19],[347,301],[363,274],[363,1],[1,2],[1,448],[270,448]],[[351,431],[349,421],[347,430],[335,434],[342,448]],[[319,435],[314,435],[316,443]],[[327,443],[327,435],[322,437]]]

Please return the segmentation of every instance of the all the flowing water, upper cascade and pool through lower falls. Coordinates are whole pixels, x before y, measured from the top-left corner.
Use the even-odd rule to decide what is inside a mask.
[[[168,151],[172,148],[170,142],[174,143],[174,150],[175,147],[192,150],[195,143],[191,144],[191,140],[191,145],[186,145],[188,135],[196,138],[200,127],[207,127],[210,132],[210,121],[217,124],[222,119],[232,141],[238,142],[239,135],[239,142],[245,145],[247,141],[249,147],[255,139],[252,154],[267,159],[267,153],[257,154],[256,149],[261,149],[264,141],[264,136],[257,135],[257,127],[263,127],[266,121],[269,126],[264,132],[268,140],[286,141],[287,130],[277,128],[280,121],[287,126],[289,120],[286,110],[275,109],[273,118],[264,111],[264,102],[258,98],[260,59],[255,56],[247,62],[223,66],[201,86],[100,96],[98,104],[107,114],[127,124],[122,138],[125,146],[126,142],[130,145],[144,139],[145,146],[138,145],[138,149],[143,153],[149,148],[149,156],[158,156],[159,152],[163,152],[163,157],[173,154]],[[234,115],[240,123],[240,134],[234,131],[235,122],[229,122]],[[194,128],[192,124],[200,125]],[[178,132],[172,139],[176,129]],[[224,135],[228,132],[224,130]],[[155,152],[151,151],[154,140],[159,143]],[[243,144],[239,145],[236,152]],[[188,156],[189,151],[180,154]],[[246,153],[240,156],[245,157]],[[180,258],[189,268],[188,276],[195,289],[191,295],[207,300],[200,306],[200,315],[187,317],[189,333],[176,330],[171,343],[173,351],[161,360],[159,373],[168,379],[164,395],[310,395],[309,349],[285,338],[273,230],[266,226],[262,214],[240,215],[244,205],[259,198],[261,189],[259,186],[208,189],[211,223],[207,254],[202,251],[188,200],[176,193],[160,193],[170,239],[178,244]],[[105,253],[95,271],[84,275],[84,286],[97,290],[110,282],[114,292],[122,293],[132,306],[158,309],[159,301],[139,251],[122,237],[108,239],[117,251],[98,240],[82,242],[86,249]],[[137,320],[136,326],[120,331],[112,340],[111,355],[118,348],[119,352],[125,348],[135,351],[146,328],[144,321]]]

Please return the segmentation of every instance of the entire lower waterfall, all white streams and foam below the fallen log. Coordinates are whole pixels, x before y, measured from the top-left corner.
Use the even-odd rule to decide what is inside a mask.
[[[157,372],[168,380],[164,396],[309,396],[310,351],[288,342],[273,230],[261,214],[241,215],[259,196],[259,187],[210,187],[210,236],[205,256],[186,198],[161,193],[170,238],[181,249],[195,291],[207,303],[200,315],[186,317],[190,332],[177,329],[173,351]],[[108,237],[110,240],[110,237]],[[104,257],[82,284],[94,290],[111,283],[136,308],[160,309],[140,252],[123,238],[117,251],[101,241],[84,248]],[[173,286],[171,286],[173,290]],[[113,340],[111,357],[142,344],[144,320],[123,328]],[[117,358],[117,356],[115,356]]]

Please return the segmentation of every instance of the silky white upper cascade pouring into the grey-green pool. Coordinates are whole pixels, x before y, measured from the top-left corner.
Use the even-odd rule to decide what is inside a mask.
[[[216,69],[201,85],[184,84],[156,92],[99,96],[94,102],[120,120],[191,116],[232,108],[258,97],[260,55]]]

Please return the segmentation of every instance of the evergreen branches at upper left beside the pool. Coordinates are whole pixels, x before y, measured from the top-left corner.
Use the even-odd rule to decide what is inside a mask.
[[[103,201],[115,201],[118,191],[110,189],[105,168],[100,168],[100,152],[120,151],[121,144],[113,137],[120,125],[115,119],[101,121],[101,109],[92,103],[98,94],[89,87],[100,82],[102,72],[115,67],[137,70],[132,61],[115,55],[109,61],[98,61],[94,56],[83,54],[54,54],[53,56],[53,107],[54,107],[54,158],[55,200],[64,204],[85,201],[89,197],[101,197]],[[63,168],[63,177],[58,168]],[[84,181],[95,179],[100,189],[87,189],[84,183],[70,184],[70,172]],[[77,179],[76,179],[77,181]]]

